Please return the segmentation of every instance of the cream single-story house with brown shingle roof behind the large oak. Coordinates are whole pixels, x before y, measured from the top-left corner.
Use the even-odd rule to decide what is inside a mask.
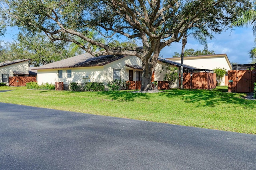
[[[154,71],[154,81],[163,81],[166,70],[162,67],[166,64],[180,68],[180,63],[158,59]],[[184,65],[186,70],[199,70],[199,68]],[[136,56],[128,55],[105,55],[93,57],[89,53],[77,55],[34,67],[37,70],[38,84],[64,82],[64,89],[68,89],[70,82],[103,82],[105,86],[115,79],[126,81],[141,81],[142,62]],[[179,69],[177,70],[179,73]],[[107,86],[106,86],[107,87]],[[178,88],[179,81],[172,88]]]

